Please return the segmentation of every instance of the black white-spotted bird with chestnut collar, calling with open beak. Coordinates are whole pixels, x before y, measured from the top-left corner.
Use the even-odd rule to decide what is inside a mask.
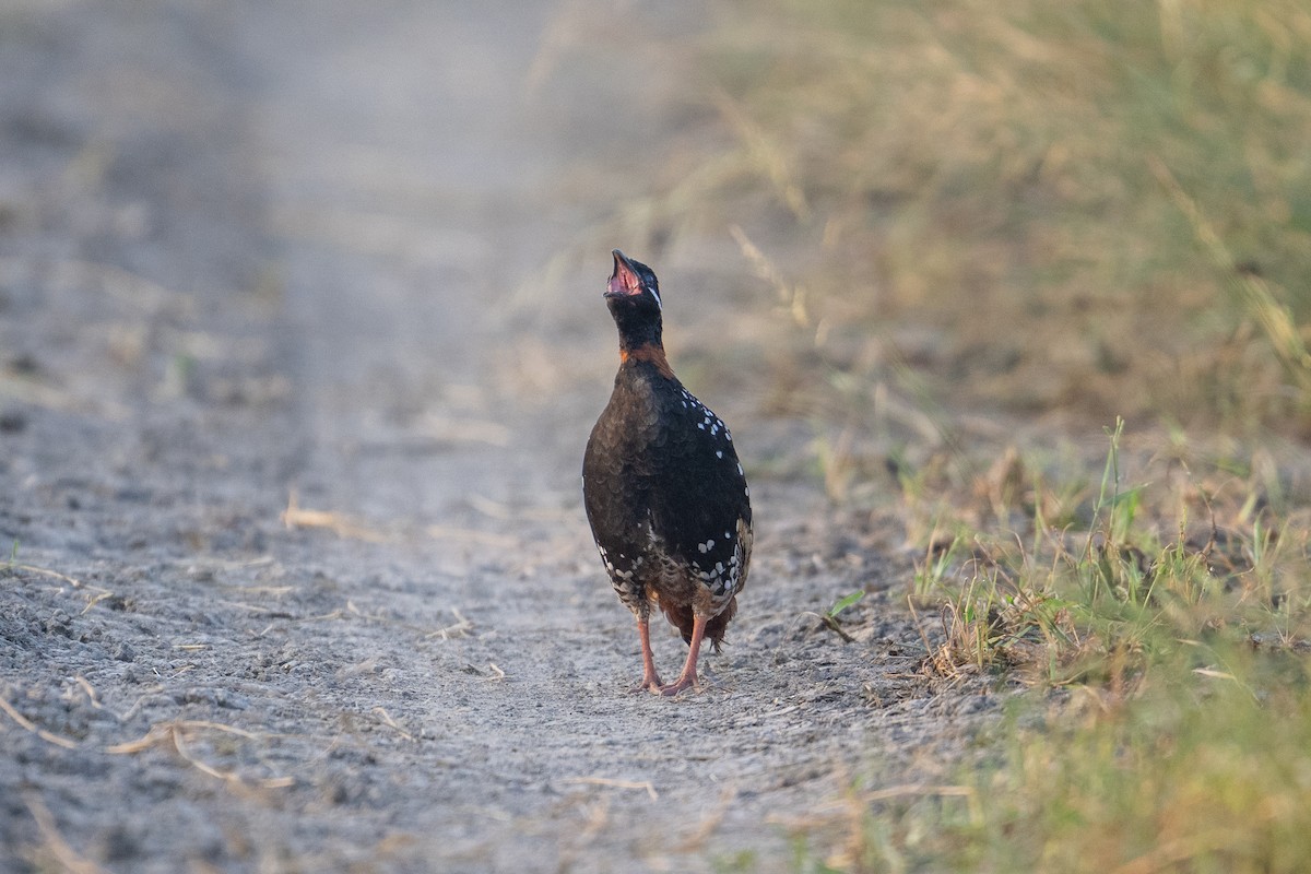
[[[587,439],[583,507],[619,600],[637,618],[635,692],[699,688],[703,641],[714,651],[737,613],[751,561],[751,489],[724,421],[674,376],[662,339],[659,283],[615,249],[604,299],[619,329],[619,372]],[[665,684],[652,655],[658,607],[688,645]]]

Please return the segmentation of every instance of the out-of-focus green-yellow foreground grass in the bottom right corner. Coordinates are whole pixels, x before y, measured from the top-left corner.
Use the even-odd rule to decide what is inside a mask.
[[[1202,667],[1211,664],[1223,668]],[[874,802],[853,835],[829,848],[809,844],[809,866],[1303,870],[1311,852],[1304,660],[1193,647],[1151,676],[1129,701],[1084,688],[1045,721],[1023,719],[1016,708],[985,742],[991,760],[961,773],[952,794]]]

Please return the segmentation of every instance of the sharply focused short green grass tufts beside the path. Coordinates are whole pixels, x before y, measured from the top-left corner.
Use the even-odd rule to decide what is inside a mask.
[[[1177,639],[1311,642],[1304,472],[1291,494],[1272,495],[1259,470],[1242,477],[1185,447],[1126,459],[1122,421],[1108,440],[1097,482],[1012,455],[982,487],[937,484],[965,502],[933,504],[957,533],[945,549],[929,544],[911,594],[952,617],[935,655],[944,670],[1029,664],[1030,681],[1063,685],[1086,680],[1088,663],[1142,670]]]

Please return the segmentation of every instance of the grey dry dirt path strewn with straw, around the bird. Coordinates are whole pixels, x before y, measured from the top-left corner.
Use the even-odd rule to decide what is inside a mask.
[[[624,693],[578,466],[625,241],[547,265],[676,124],[624,41],[703,22],[437,5],[0,8],[0,870],[787,870],[992,709],[763,474],[705,691]]]

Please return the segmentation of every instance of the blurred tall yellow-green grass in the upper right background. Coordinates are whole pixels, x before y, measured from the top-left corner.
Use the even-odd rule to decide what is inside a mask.
[[[1306,3],[717,10],[730,136],[663,204],[759,242],[798,396],[1311,436]]]

